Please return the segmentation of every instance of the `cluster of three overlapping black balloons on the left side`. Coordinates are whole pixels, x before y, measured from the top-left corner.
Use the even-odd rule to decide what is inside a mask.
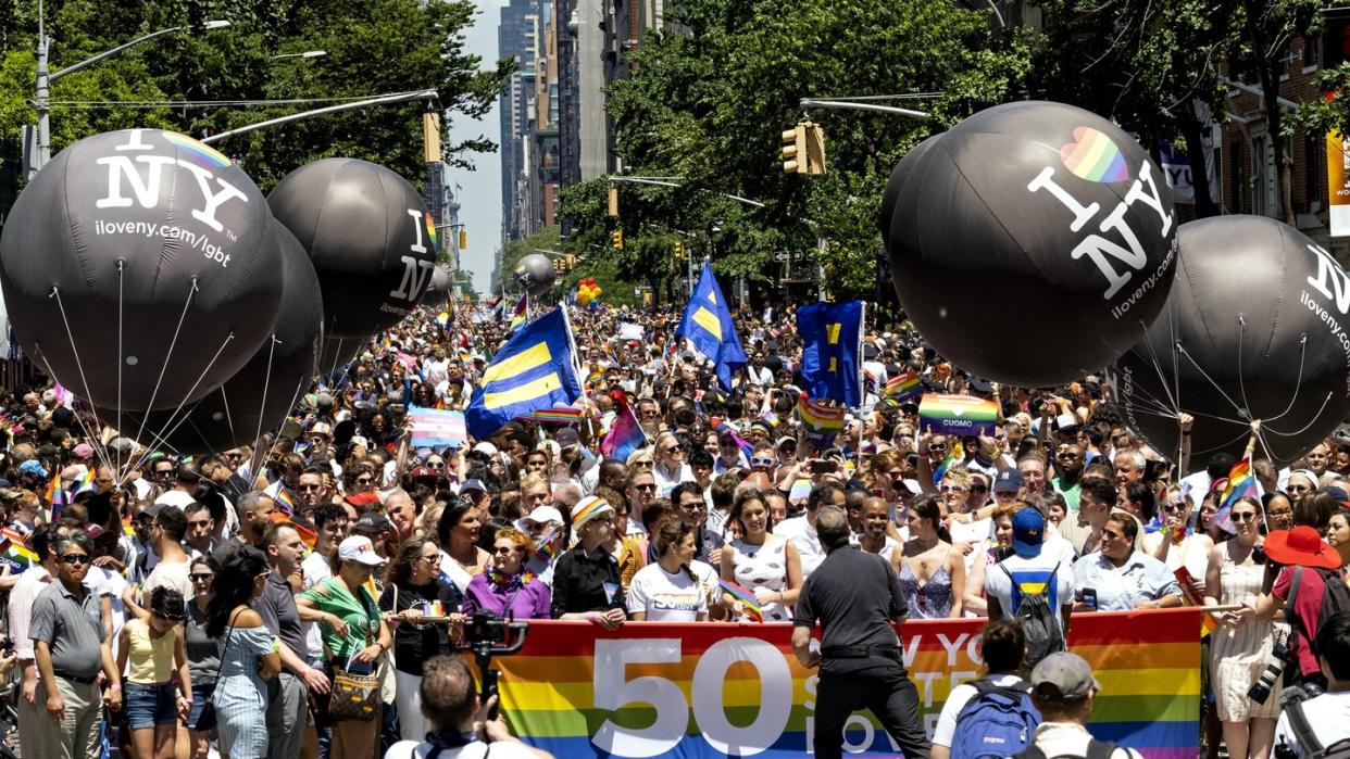
[[[204,143],[127,129],[28,183],[0,289],[20,348],[100,422],[194,454],[285,421],[321,352],[355,355],[417,306],[435,257],[431,216],[387,169],[324,159],[263,197]]]

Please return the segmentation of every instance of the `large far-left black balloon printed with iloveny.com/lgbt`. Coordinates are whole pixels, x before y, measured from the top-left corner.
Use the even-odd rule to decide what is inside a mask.
[[[96,406],[173,408],[231,377],[281,305],[271,214],[205,144],[86,138],[24,189],[0,237],[20,348]]]

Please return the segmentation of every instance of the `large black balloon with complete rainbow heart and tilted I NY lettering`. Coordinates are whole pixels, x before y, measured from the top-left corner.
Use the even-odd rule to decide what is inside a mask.
[[[1022,387],[1098,371],[1138,341],[1176,268],[1172,195],[1110,121],[990,108],[922,143],[882,209],[895,290],[933,346]]]

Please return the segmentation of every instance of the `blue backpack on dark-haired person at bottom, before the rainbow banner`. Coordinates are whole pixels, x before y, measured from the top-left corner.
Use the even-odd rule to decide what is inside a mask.
[[[1031,743],[1041,713],[1031,705],[1031,684],[998,686],[976,679],[975,696],[956,716],[952,759],[1010,756]]]

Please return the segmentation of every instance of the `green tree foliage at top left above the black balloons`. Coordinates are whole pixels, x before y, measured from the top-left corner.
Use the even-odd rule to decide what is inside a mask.
[[[474,22],[471,0],[57,0],[46,3],[51,70],[84,61],[138,36],[186,27],[63,77],[54,101],[239,101],[350,98],[433,89],[448,112],[477,117],[500,92],[508,61],[481,70],[464,51]],[[198,31],[207,20],[230,28]],[[36,121],[32,100],[36,0],[0,1],[0,135],[16,136]],[[275,58],[325,50],[323,58]],[[51,109],[53,151],[81,138],[128,127],[173,128],[194,136],[238,128],[331,102],[266,107],[194,105]],[[289,171],[327,156],[387,166],[420,185],[421,102],[325,115],[231,138],[216,147],[236,156],[267,191]],[[494,150],[486,140],[444,144],[444,159],[464,166],[466,151]]]

